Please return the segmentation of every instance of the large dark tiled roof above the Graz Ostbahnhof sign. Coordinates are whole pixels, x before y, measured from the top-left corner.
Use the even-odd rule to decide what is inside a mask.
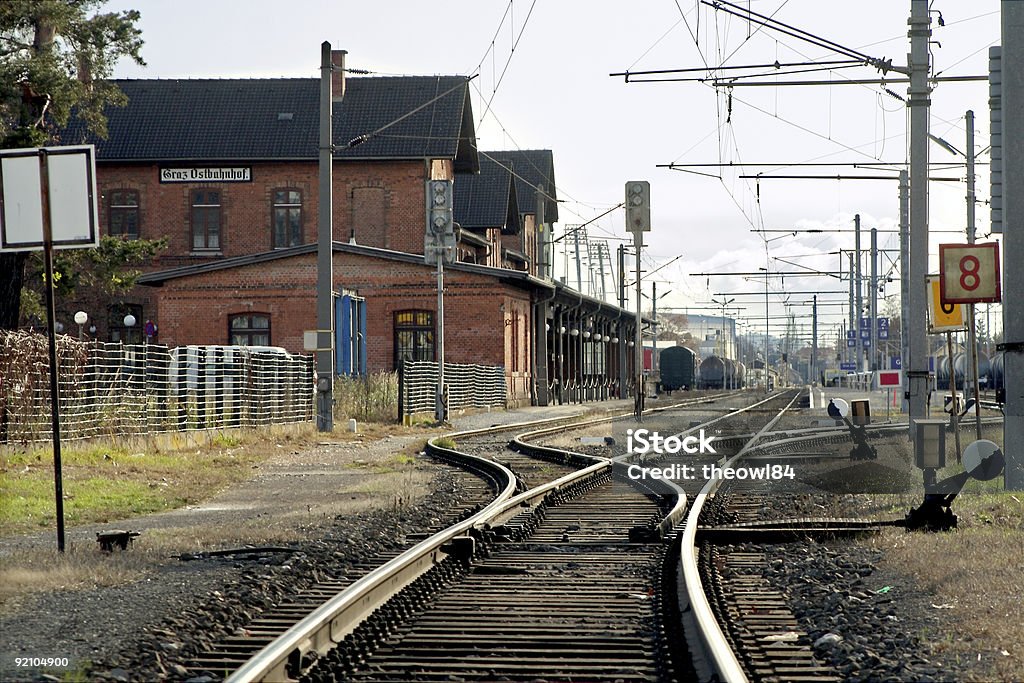
[[[108,108],[108,139],[90,135],[75,117],[61,133],[68,144],[94,143],[100,162],[317,158],[317,79],[113,83],[128,104]],[[335,159],[454,159],[457,171],[475,172],[467,84],[462,76],[348,79],[344,100],[332,111]],[[362,135],[370,137],[348,146]]]

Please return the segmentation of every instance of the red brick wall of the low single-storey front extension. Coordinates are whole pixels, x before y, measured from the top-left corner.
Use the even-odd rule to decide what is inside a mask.
[[[367,365],[392,370],[394,313],[437,310],[433,267],[335,254],[337,289],[367,300]],[[270,315],[270,343],[301,353],[302,332],[315,324],[315,255],[282,258],[168,281],[153,290],[160,341],[227,343],[231,314]],[[504,366],[511,396],[528,401],[529,294],[475,273],[445,270],[444,357],[449,362]]]

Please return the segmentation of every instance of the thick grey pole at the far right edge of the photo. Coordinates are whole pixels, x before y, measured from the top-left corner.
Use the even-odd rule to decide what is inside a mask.
[[[1024,260],[1019,225],[1024,220],[1024,3],[1004,0],[1002,10],[1002,261]],[[1002,368],[1006,487],[1024,490],[1024,268],[1002,269]]]

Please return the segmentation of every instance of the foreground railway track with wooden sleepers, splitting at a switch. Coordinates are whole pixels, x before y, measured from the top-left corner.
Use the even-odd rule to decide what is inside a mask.
[[[691,401],[662,412],[667,424],[689,425],[681,433],[714,429],[742,453],[795,399],[793,393],[759,397],[736,410],[719,396],[706,399],[713,404]],[[831,680],[806,643],[794,646],[793,615],[759,582],[763,558],[732,542],[867,526],[754,521],[741,511],[761,507],[750,492],[745,502],[732,497],[728,506],[720,495],[718,516],[701,518],[702,502],[715,493],[697,490],[695,482],[671,483],[666,495],[664,487],[624,481],[616,466],[629,454],[539,445],[564,429],[535,430],[514,440],[518,454],[497,456],[505,437],[456,435],[459,451],[492,455],[470,459],[489,472],[483,474],[493,480],[488,488],[501,493],[349,585],[318,587],[323,604],[301,618],[297,607],[276,625],[283,635],[263,634],[259,652],[247,651],[244,664],[225,663],[222,671],[237,669],[231,681]],[[734,433],[753,436],[729,438]],[[687,514],[688,500],[701,505]],[[763,628],[750,626],[752,615]],[[740,624],[739,631],[730,623]]]

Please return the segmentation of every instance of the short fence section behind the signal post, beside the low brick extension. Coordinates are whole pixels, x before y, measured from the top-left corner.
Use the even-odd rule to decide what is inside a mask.
[[[508,387],[501,366],[444,364],[449,412],[466,409],[506,408]],[[437,362],[406,360],[398,368],[398,413],[402,420],[434,414]]]

